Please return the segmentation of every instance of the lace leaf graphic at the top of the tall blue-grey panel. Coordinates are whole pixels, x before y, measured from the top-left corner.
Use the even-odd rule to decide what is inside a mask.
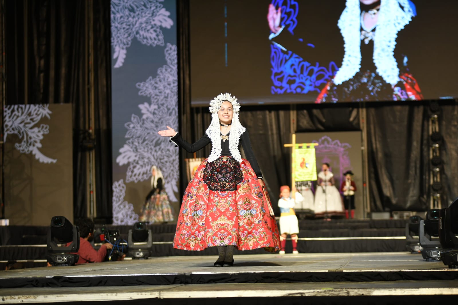
[[[120,68],[132,39],[147,46],[164,46],[161,28],[173,26],[170,12],[159,2],[164,0],[111,0],[111,45],[114,68]]]

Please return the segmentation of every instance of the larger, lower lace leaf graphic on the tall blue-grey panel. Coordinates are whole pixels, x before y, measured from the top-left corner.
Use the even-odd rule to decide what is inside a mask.
[[[176,202],[174,192],[178,192],[178,150],[169,143],[169,138],[158,135],[158,130],[164,129],[166,125],[174,129],[178,128],[176,45],[167,43],[164,54],[167,64],[158,69],[157,76],[155,78],[150,76],[146,81],[136,84],[140,89],[138,94],[149,97],[150,102],[138,105],[142,113],[141,117],[132,114],[131,122],[125,123],[127,140],[119,150],[120,155],[116,158],[116,162],[120,166],[128,165],[126,182],[147,180],[151,177],[151,166],[158,166],[164,175],[165,191],[170,201]],[[122,180],[115,182],[115,185],[116,183],[124,185]],[[131,225],[135,222],[133,219],[138,219],[138,215],[135,218],[130,205],[122,203],[120,206],[121,202],[122,200],[115,200],[113,195],[113,223]],[[123,218],[127,220],[121,220]],[[131,223],[124,223],[124,221]]]

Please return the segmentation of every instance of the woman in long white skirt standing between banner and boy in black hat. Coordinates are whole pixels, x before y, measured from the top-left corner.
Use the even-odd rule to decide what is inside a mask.
[[[341,215],[343,212],[342,198],[335,187],[334,175],[329,171],[329,164],[323,163],[315,192],[315,216]]]

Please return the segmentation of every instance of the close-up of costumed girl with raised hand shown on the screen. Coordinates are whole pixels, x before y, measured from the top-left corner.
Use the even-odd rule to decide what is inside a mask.
[[[297,43],[293,48],[282,36],[292,36],[280,27],[281,9],[271,4],[267,20],[270,39],[284,50],[314,63],[311,54],[318,47]],[[398,32],[412,17],[415,5],[410,0],[347,0],[338,27],[344,38],[344,58],[340,68],[316,98],[323,102],[421,100],[420,86],[409,71],[408,57],[398,50]],[[306,39],[306,37],[304,37]],[[316,49],[316,50],[312,50]],[[313,57],[313,56],[312,56]]]

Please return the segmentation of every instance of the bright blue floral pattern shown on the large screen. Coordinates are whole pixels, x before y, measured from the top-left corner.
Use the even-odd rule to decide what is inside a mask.
[[[281,7],[280,24],[294,35],[297,26],[298,2],[295,0],[273,0],[272,4]],[[272,65],[272,94],[320,92],[320,86],[335,75],[338,68],[334,62],[328,67],[319,63],[311,64],[291,51],[283,51],[277,45],[271,45],[270,62]]]

